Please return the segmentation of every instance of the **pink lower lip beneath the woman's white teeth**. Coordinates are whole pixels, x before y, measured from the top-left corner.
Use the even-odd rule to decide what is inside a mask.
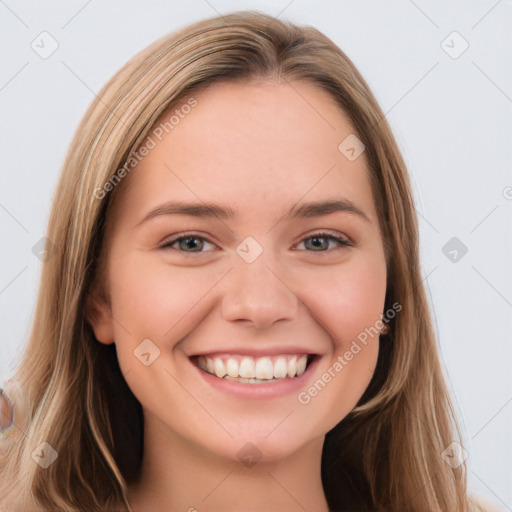
[[[278,398],[290,393],[298,393],[301,389],[304,389],[313,374],[315,368],[318,365],[320,357],[316,356],[313,361],[308,365],[306,371],[294,377],[293,379],[280,379],[268,383],[260,384],[248,384],[245,382],[235,382],[232,380],[221,379],[212,375],[211,373],[205,372],[202,368],[194,364],[192,365],[207,384],[212,386],[228,395],[235,396],[237,398],[243,398],[246,400],[258,400],[258,399],[270,399]]]

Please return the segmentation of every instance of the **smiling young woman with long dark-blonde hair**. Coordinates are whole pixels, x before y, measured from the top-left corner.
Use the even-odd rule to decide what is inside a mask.
[[[317,30],[234,13],[134,57],[47,237],[1,510],[483,510],[404,162]]]

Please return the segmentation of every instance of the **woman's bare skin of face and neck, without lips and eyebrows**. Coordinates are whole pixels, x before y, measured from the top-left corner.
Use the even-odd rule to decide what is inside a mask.
[[[135,512],[326,512],[324,436],[368,386],[378,336],[306,405],[297,392],[227,395],[189,356],[307,347],[319,355],[307,390],[375,325],[386,262],[364,153],[349,161],[338,150],[354,129],[308,83],[221,83],[194,97],[192,112],[125,178],[107,237],[111,307],[102,304],[92,321],[99,342],[116,343],[144,411],[142,473],[130,500]],[[299,201],[338,198],[367,219],[347,212],[283,218]],[[174,214],[139,224],[171,200],[215,202],[238,217]],[[324,230],[352,245],[322,238],[315,250],[311,237]],[[199,249],[159,248],[180,233],[204,237]],[[252,263],[236,252],[247,236],[263,249]],[[160,350],[149,366],[134,356],[145,339]],[[252,467],[237,456],[246,443],[261,454]]]

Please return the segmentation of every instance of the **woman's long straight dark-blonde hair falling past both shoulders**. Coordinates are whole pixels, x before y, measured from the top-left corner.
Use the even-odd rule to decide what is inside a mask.
[[[32,330],[9,381],[17,425],[0,441],[1,510],[131,510],[127,488],[143,449],[141,406],[115,345],[98,343],[87,321],[92,287],[103,275],[107,221],[130,178],[100,199],[98,190],[119,178],[170,108],[209,84],[254,78],[313,83],[349,116],[366,147],[385,245],[386,310],[402,306],[381,338],[368,389],[326,436],[322,480],[330,508],[479,509],[467,493],[464,464],[452,468],[442,457],[460,436],[420,273],[407,169],[384,114],[351,60],[318,30],[238,12],[191,25],[136,55],[78,127],[54,196],[52,251]],[[50,449],[41,443],[57,454],[47,468],[35,463],[34,450]]]

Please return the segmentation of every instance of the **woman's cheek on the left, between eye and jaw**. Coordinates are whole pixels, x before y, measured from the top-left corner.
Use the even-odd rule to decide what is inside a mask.
[[[110,285],[121,371],[144,408],[159,416],[165,399],[169,408],[183,410],[185,418],[190,397],[168,373],[176,372],[173,349],[208,313],[208,293],[219,273],[198,267],[173,268],[161,261],[150,262],[143,255],[117,261],[110,270]],[[149,353],[148,366],[143,361],[145,353]]]

